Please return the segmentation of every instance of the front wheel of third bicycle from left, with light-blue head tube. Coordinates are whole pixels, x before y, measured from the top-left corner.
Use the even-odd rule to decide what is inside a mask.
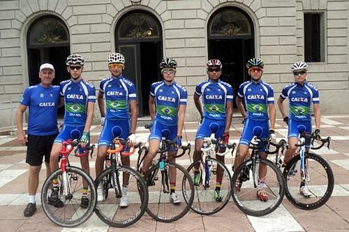
[[[148,215],[160,222],[174,222],[186,215],[193,203],[194,184],[184,167],[168,162],[165,171],[160,171],[154,165],[145,180],[149,190]],[[176,197],[171,195],[171,189]]]

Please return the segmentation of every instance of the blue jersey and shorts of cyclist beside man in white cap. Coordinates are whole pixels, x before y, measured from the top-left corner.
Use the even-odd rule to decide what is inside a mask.
[[[61,82],[60,95],[64,98],[66,113],[64,114],[64,126],[54,139],[54,143],[62,143],[67,139],[80,139],[87,120],[87,105],[96,102],[96,88],[80,80],[73,82],[71,79]]]

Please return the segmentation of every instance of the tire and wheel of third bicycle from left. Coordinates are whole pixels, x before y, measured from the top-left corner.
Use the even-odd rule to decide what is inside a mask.
[[[176,191],[176,194],[182,202],[176,205],[170,202],[170,193],[164,193],[162,189],[161,171],[159,171],[158,165],[154,165],[145,175],[149,190],[147,213],[159,222],[174,222],[186,215],[191,209],[194,200],[194,184],[191,176],[181,165],[166,162],[165,167],[166,170],[170,167],[174,167],[176,170],[176,190],[178,190],[177,187],[181,187],[181,190]],[[151,178],[153,174],[155,177],[156,173],[158,173],[158,178]]]

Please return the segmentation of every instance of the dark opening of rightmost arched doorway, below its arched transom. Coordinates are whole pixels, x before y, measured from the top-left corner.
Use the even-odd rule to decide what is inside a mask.
[[[209,40],[209,59],[219,59],[223,64],[221,80],[232,85],[234,99],[240,84],[248,77],[246,61],[253,54],[253,39]],[[234,101],[234,107],[236,107]]]

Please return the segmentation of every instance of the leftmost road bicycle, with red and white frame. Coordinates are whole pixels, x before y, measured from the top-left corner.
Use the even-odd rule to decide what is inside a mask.
[[[59,152],[60,167],[53,171],[45,180],[41,190],[41,204],[45,215],[55,224],[63,227],[78,226],[89,219],[94,213],[96,206],[96,187],[94,180],[79,167],[70,165],[68,157],[74,150],[74,155],[81,157],[91,155],[94,150],[93,146],[86,146],[85,149],[80,148],[80,141],[68,140],[62,144]],[[59,182],[59,202],[63,205],[57,205],[50,202],[52,193],[52,180],[58,178]],[[88,187],[88,194],[83,194],[83,189]],[[82,199],[84,198],[84,199]],[[82,201],[87,201],[82,204]],[[80,204],[81,202],[81,204]]]

